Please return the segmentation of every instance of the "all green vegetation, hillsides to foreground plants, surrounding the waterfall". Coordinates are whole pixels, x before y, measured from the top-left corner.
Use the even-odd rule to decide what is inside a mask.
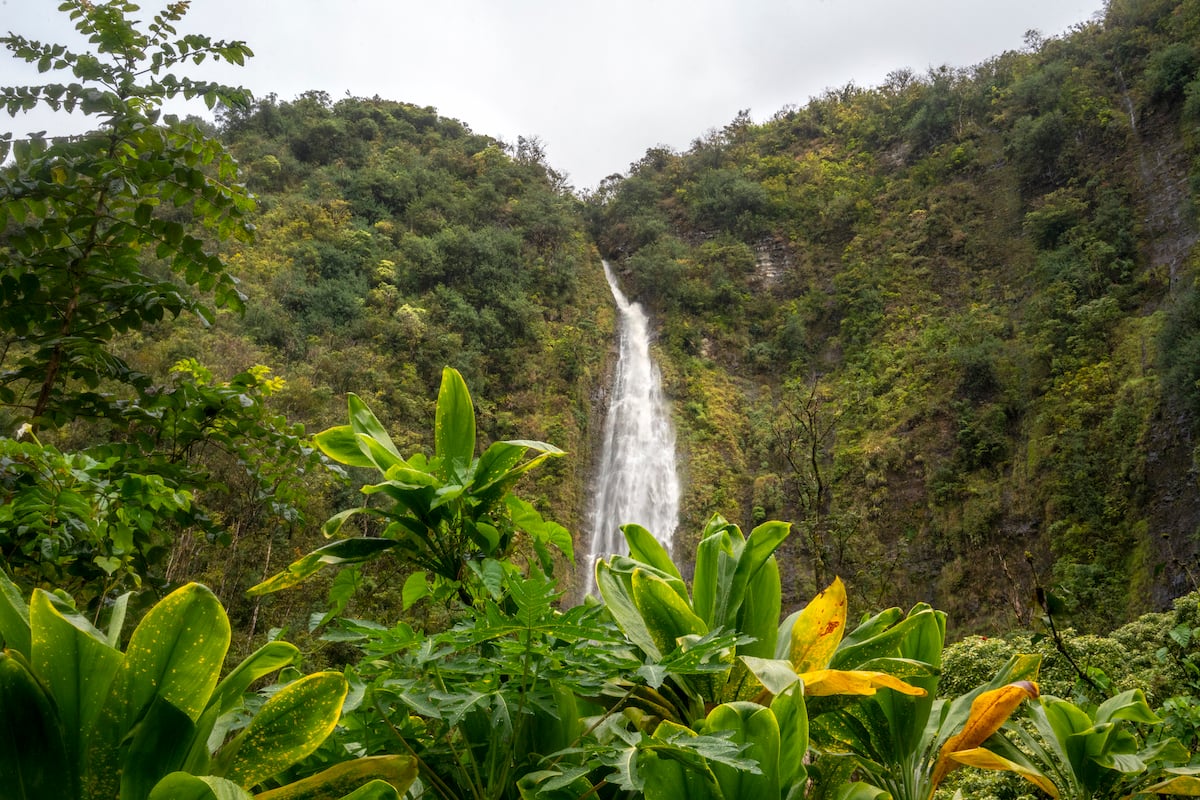
[[[182,77],[251,55],[187,2],[60,8],[89,50],[2,40],[73,80],[10,113],[100,122],[0,138],[0,794],[1200,795],[1200,4],[586,203],[536,138]],[[598,249],[690,534],[572,604]]]

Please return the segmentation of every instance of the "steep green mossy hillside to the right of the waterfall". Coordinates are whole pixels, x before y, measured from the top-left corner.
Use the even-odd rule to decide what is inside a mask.
[[[832,573],[980,630],[1036,587],[1104,626],[1195,587],[1200,2],[896,71],[589,198],[653,305],[686,530],[796,521]]]

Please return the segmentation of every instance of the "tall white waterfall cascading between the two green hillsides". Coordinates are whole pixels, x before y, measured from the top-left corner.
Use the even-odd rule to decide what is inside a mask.
[[[620,350],[595,480],[584,594],[595,589],[596,559],[628,552],[620,525],[642,525],[670,553],[679,524],[674,429],[659,368],[650,359],[649,319],[641,303],[630,302],[622,293],[607,261],[604,273],[620,314]]]

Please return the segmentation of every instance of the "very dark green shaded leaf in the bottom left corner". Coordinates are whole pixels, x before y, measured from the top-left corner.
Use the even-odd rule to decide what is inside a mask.
[[[17,650],[0,651],[0,794],[6,800],[77,798],[54,700]]]

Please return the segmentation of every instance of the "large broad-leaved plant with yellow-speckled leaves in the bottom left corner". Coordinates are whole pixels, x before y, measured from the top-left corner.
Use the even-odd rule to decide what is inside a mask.
[[[229,620],[199,584],[160,601],[122,651],[128,595],[100,631],[62,597],[36,590],[25,606],[14,584],[2,575],[0,582],[5,796],[144,800],[187,788],[197,798],[248,798],[248,789],[312,753],[341,716],[346,676],[320,672],[276,686],[245,718],[251,684],[293,668],[300,651],[268,643],[221,679]],[[389,792],[377,786],[355,796],[398,798],[412,766],[402,756],[360,760],[310,780],[305,790],[319,786],[332,796],[332,787],[379,780]],[[257,796],[304,794],[282,787]]]

